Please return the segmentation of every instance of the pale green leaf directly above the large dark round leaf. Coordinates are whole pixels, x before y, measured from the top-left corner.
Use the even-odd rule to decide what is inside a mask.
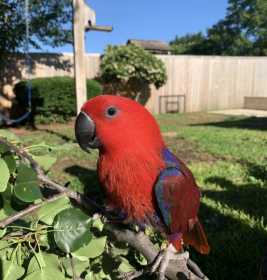
[[[37,216],[43,223],[52,225],[55,216],[62,210],[70,208],[70,200],[68,197],[62,197],[56,201],[44,204],[38,211]]]

